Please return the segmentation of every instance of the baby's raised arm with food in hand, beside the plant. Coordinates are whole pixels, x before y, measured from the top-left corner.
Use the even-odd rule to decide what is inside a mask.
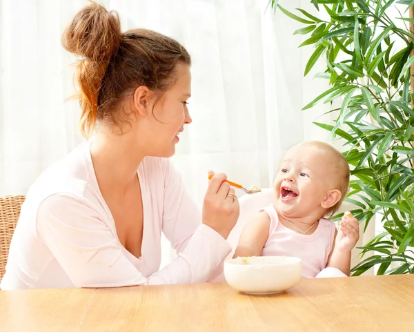
[[[333,250],[328,258],[326,267],[334,267],[351,274],[351,251],[359,240],[359,222],[351,213],[345,213],[339,222],[339,232],[335,231]]]

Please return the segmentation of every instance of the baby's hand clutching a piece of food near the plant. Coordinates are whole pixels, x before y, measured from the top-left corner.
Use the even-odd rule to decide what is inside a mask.
[[[340,251],[351,251],[359,240],[359,222],[350,212],[344,213],[339,222],[335,247]]]

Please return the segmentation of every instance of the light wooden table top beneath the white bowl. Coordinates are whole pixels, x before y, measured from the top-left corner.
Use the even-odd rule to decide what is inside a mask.
[[[414,275],[302,280],[251,296],[226,284],[0,291],[0,331],[414,331]]]

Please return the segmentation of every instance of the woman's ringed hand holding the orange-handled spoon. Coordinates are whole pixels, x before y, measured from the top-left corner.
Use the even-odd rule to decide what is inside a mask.
[[[214,174],[209,172],[209,174]],[[239,218],[239,201],[235,190],[224,182],[225,174],[216,174],[210,180],[203,203],[203,224],[213,228],[227,239]]]

